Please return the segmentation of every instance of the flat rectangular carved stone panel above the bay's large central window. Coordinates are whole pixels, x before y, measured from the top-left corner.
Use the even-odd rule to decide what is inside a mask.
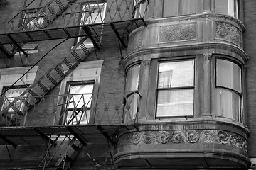
[[[160,26],[159,42],[196,39],[196,23]]]

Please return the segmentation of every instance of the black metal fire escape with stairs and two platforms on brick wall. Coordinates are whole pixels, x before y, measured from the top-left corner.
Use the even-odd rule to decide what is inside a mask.
[[[41,104],[50,101],[49,98],[53,96],[48,96],[48,93],[73,69],[78,67],[80,62],[86,61],[92,52],[97,54],[101,48],[108,47],[107,45],[112,45],[112,43],[118,44],[121,48],[127,47],[129,33],[140,26],[146,26],[145,13],[140,13],[140,9],[144,8],[145,12],[148,1],[111,0],[81,3],[76,0],[48,0],[43,6],[31,8],[36,2],[37,0],[33,0],[21,11],[18,11],[8,22],[9,27],[5,33],[0,34],[1,60],[14,57],[16,52],[28,57],[27,52],[23,50],[23,45],[28,42],[61,40],[33,64],[31,67],[33,69],[65,40],[78,38],[78,42],[63,60],[48,69],[33,84],[28,86],[23,82],[23,77],[26,77],[31,70],[28,69],[1,94],[1,103],[7,104],[4,108],[2,107],[0,112],[1,121],[4,120],[5,123],[4,127],[0,128],[0,145],[17,147],[18,145],[47,143],[46,154],[42,157],[41,162],[31,169],[71,169],[75,158],[82,147],[87,146],[87,143],[107,141],[116,145],[119,132],[137,129],[135,122],[123,123],[124,114],[130,112],[129,102],[131,100],[128,100],[128,97],[124,97],[125,102],[116,101],[116,103],[110,104],[110,101],[105,101],[104,98],[115,96],[114,93],[91,94],[88,99],[90,102],[84,99],[88,94],[81,94],[79,97],[84,99],[80,100],[83,103],[73,107],[70,119],[64,125],[26,127],[22,122],[25,121],[26,115],[36,113]],[[97,11],[96,14],[95,11]],[[93,47],[87,47],[85,40],[88,39],[92,42]],[[68,70],[63,69],[63,64]],[[5,96],[6,91],[21,81],[26,86],[26,90],[20,96],[16,98]],[[129,95],[123,93],[122,96],[130,98],[139,96],[139,94],[134,91]],[[138,103],[139,97],[136,97]],[[56,111],[68,112],[67,103],[73,102],[73,96],[55,96],[55,98],[63,103],[59,104],[52,100],[53,113]],[[105,103],[100,107],[103,112],[100,121],[81,123],[79,116],[86,115],[91,107],[88,106],[88,103],[95,106],[93,111],[97,117],[100,110],[96,105],[100,100]],[[62,110],[63,106],[66,106],[64,110]],[[113,108],[110,109],[110,106]],[[118,119],[113,121],[114,118]],[[64,147],[65,149],[63,149]]]

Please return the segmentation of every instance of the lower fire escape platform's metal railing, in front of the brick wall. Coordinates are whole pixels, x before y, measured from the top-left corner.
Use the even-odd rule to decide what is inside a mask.
[[[24,101],[40,98],[28,109]],[[119,125],[137,123],[138,91],[114,91],[96,94],[65,94],[58,96],[18,97],[14,106],[6,111],[13,121],[0,118],[0,126],[50,126],[50,125]],[[1,110],[17,98],[1,98]],[[25,100],[26,99],[26,100]],[[13,109],[13,108],[16,109]],[[17,111],[18,110],[18,111]],[[26,113],[20,115],[19,111]]]

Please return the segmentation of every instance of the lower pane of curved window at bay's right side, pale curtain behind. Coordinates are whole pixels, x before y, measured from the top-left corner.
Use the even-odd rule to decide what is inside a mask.
[[[240,96],[228,89],[216,89],[217,115],[240,121]]]

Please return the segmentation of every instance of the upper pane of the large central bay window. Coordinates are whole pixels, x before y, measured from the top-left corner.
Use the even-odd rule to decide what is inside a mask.
[[[159,88],[193,86],[194,61],[159,64]]]

